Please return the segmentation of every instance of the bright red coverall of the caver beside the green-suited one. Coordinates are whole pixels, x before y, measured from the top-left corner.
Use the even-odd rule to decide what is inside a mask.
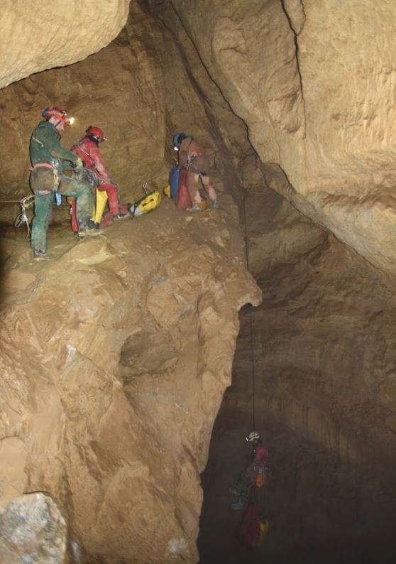
[[[99,191],[107,192],[107,197],[109,198],[109,212],[111,215],[117,215],[119,213],[119,195],[117,190],[117,185],[112,183],[109,178],[109,173],[107,172],[104,162],[101,158],[101,152],[97,143],[85,136],[80,141],[77,141],[75,145],[72,146],[72,152],[75,153],[79,158],[81,158],[84,166],[92,170],[97,177],[97,189]],[[75,219],[73,205],[72,205],[72,229],[73,231],[78,231],[75,229],[77,224],[77,219]]]

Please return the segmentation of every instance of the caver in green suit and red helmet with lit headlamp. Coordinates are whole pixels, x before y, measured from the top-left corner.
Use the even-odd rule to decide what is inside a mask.
[[[91,185],[63,174],[64,170],[82,166],[81,159],[60,144],[62,131],[72,119],[65,109],[57,107],[46,108],[42,116],[44,121],[33,131],[30,143],[30,185],[35,197],[31,247],[35,259],[48,260],[47,230],[55,193],[76,198],[81,234],[96,232],[91,222],[94,209]]]

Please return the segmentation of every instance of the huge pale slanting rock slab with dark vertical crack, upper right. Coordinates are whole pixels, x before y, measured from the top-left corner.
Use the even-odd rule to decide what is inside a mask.
[[[395,271],[393,3],[173,0],[209,73],[282,192]]]

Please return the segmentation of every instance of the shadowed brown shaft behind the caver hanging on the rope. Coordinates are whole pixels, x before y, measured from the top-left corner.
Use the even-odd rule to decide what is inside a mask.
[[[274,245],[276,216],[285,208],[258,207],[259,197],[248,196],[253,255],[263,224]],[[263,215],[264,209],[271,212]],[[295,233],[281,228],[275,238],[282,237]],[[258,270],[260,261],[252,258]],[[392,288],[328,237],[303,255],[263,266],[255,273],[263,304],[241,310],[233,382],[202,474],[200,563],[394,563],[395,453],[387,450],[392,431],[377,395]],[[231,509],[235,498],[227,491],[251,452],[245,440],[253,426],[250,313],[256,430],[270,455],[267,482],[256,494],[270,525],[263,546],[253,549],[237,539],[243,511]]]

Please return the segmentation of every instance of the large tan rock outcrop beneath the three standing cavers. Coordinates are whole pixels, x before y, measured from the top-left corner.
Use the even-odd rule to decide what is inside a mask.
[[[1,494],[50,492],[106,563],[197,561],[199,472],[237,313],[260,301],[236,224],[166,200],[91,240],[51,238],[49,264],[23,240],[9,248]]]

